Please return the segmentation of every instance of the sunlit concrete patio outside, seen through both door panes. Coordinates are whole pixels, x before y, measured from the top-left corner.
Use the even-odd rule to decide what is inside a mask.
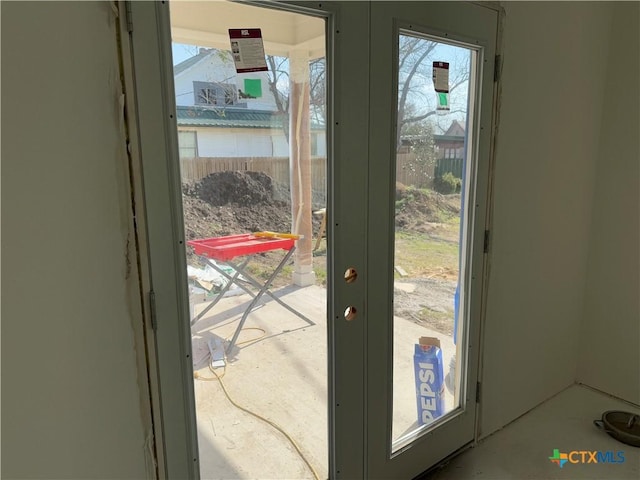
[[[275,301],[265,299],[249,315],[226,367],[216,372],[235,402],[280,425],[319,477],[327,478],[326,290],[313,285],[285,287],[275,293],[315,325],[308,325]],[[209,370],[208,340],[231,337],[250,300],[246,294],[223,298],[192,327],[201,476],[313,478],[285,436],[232,405]],[[196,312],[205,306],[206,303],[196,305]],[[451,337],[397,320],[394,438],[417,425],[413,351],[418,338],[440,339],[445,373],[455,352]],[[453,396],[446,389],[445,403],[447,410],[452,408]]]

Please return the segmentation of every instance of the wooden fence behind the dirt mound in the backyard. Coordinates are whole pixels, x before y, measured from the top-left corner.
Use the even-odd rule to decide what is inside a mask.
[[[314,202],[326,202],[327,159],[311,158],[311,188]],[[183,181],[200,180],[215,172],[263,172],[276,182],[289,185],[288,157],[195,157],[181,158]],[[399,153],[396,161],[396,181],[418,188],[433,184],[434,165],[419,165],[413,153]]]

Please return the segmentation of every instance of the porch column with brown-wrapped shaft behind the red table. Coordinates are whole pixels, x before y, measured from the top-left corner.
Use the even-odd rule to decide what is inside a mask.
[[[291,175],[291,231],[303,235],[294,255],[293,283],[313,285],[311,223],[311,147],[309,128],[309,52],[289,54],[289,171]]]

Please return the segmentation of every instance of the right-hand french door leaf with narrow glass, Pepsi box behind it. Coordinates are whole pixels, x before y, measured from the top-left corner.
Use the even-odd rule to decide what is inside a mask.
[[[370,29],[365,475],[412,478],[474,438],[497,12],[372,2]],[[432,193],[393,183],[407,146],[418,165],[434,147],[431,185],[445,195],[431,203],[459,207],[414,232],[403,210]],[[417,305],[405,305],[407,286]]]

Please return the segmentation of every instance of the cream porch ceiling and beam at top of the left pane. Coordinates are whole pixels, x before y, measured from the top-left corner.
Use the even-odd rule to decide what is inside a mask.
[[[265,53],[288,56],[307,51],[324,56],[325,22],[282,10],[253,7],[225,0],[170,2],[174,42],[229,49],[229,28],[261,28]]]

